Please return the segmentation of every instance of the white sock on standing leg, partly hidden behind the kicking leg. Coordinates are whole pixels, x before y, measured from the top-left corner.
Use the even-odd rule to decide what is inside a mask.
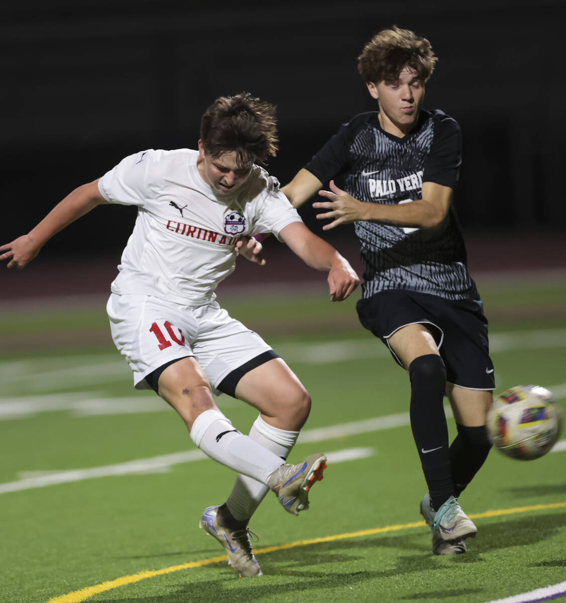
[[[264,448],[286,459],[299,437],[298,431],[285,431],[266,423],[261,416],[256,418],[250,429],[250,438]],[[269,488],[245,475],[238,475],[230,496],[226,500],[228,510],[238,520],[248,520],[252,517],[259,503],[269,492]]]

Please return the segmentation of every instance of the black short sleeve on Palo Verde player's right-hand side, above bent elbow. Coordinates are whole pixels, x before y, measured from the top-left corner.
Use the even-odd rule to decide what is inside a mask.
[[[439,116],[434,124],[433,144],[424,166],[422,182],[436,182],[456,187],[462,163],[462,133],[457,122],[448,115]]]

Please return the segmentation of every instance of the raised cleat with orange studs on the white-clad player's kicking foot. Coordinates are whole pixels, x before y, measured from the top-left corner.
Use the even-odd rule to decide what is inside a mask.
[[[326,456],[313,454],[299,465],[282,465],[270,475],[267,485],[282,507],[293,515],[308,509],[308,491],[323,478]]]

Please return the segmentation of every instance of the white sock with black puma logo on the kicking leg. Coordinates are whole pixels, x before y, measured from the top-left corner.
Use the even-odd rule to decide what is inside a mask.
[[[241,434],[215,409],[202,412],[192,424],[191,440],[210,458],[238,473],[267,484],[283,461],[276,453]]]

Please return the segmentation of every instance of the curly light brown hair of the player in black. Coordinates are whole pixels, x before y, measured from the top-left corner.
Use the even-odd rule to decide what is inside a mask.
[[[402,69],[409,66],[426,83],[437,60],[426,38],[393,25],[367,42],[358,57],[358,71],[366,82],[377,84],[397,80]]]

